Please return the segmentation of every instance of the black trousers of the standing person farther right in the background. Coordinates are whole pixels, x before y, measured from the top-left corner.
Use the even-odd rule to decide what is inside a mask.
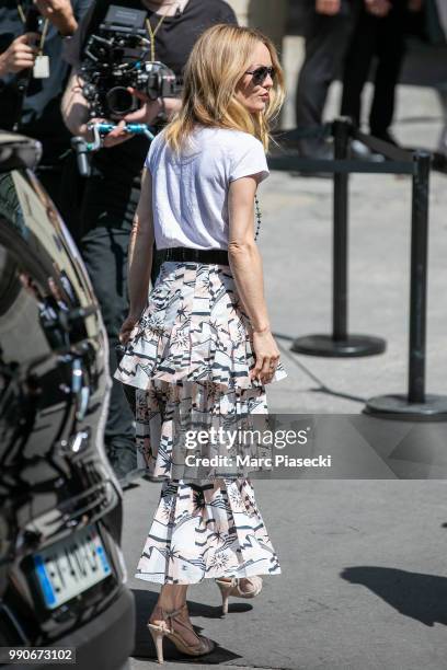
[[[404,21],[403,0],[394,0],[389,14],[381,19],[368,14],[363,7],[346,51],[341,113],[351,116],[357,126],[362,118],[362,92],[377,56],[369,112],[369,130],[376,137],[387,135],[394,114],[394,91],[404,53]]]

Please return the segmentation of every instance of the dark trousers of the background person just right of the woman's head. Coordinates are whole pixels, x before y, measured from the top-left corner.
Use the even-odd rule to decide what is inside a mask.
[[[345,51],[363,4],[363,0],[344,0],[339,14],[325,16],[316,12],[314,0],[306,2],[306,55],[295,101],[299,127],[321,124],[328,89],[342,71]]]

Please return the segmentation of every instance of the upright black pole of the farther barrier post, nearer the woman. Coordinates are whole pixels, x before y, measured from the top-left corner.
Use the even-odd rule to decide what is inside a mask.
[[[339,119],[333,125],[334,158],[347,158],[349,122]],[[333,339],[347,339],[347,218],[348,174],[334,173],[334,232],[333,232]]]

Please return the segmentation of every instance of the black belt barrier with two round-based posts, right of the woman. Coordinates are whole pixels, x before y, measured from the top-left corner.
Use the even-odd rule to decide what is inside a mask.
[[[408,151],[381,139],[365,135],[349,119],[332,124],[334,160],[302,158],[293,149],[298,138],[322,137],[325,127],[295,128],[283,131],[283,143],[271,157],[273,170],[329,172],[334,175],[333,226],[333,332],[332,335],[307,335],[294,339],[290,349],[298,354],[326,357],[370,356],[385,350],[385,340],[367,335],[351,335],[348,305],[348,174],[408,174],[412,176],[410,335],[408,393],[379,395],[367,401],[364,412],[379,418],[397,420],[447,420],[447,396],[425,393],[426,294],[428,265],[428,194],[432,154]],[[351,139],[357,139],[383,161],[352,159]]]

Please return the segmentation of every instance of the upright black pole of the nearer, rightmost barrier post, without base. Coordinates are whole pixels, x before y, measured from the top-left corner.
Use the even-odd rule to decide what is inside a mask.
[[[425,342],[431,155],[414,154],[411,222],[409,403],[425,403]]]

